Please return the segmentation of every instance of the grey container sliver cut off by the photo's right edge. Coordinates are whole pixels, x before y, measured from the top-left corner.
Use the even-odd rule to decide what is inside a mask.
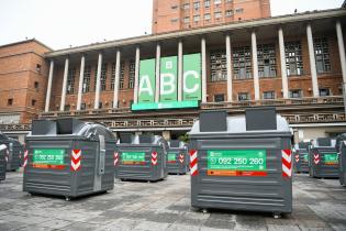
[[[338,179],[346,186],[346,133],[337,136],[335,148],[338,154]]]

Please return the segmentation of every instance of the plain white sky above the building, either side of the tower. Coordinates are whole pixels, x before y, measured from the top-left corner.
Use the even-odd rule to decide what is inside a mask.
[[[339,8],[344,0],[271,0],[272,15]],[[0,45],[35,37],[52,48],[152,32],[152,0],[0,0]]]

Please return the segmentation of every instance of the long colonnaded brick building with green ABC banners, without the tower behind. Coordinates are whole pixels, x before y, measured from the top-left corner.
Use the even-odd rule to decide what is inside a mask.
[[[295,142],[335,136],[346,131],[345,26],[341,8],[59,51],[1,46],[0,130],[21,138],[37,117],[76,117],[177,139],[201,111],[272,106]]]

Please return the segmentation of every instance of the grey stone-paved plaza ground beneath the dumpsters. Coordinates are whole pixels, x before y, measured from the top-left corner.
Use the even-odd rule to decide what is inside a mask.
[[[293,177],[293,213],[190,208],[190,178],[172,175],[157,183],[115,180],[108,194],[71,201],[22,191],[22,173],[0,183],[0,231],[10,230],[168,230],[168,231],[301,231],[346,230],[346,187],[337,179]]]

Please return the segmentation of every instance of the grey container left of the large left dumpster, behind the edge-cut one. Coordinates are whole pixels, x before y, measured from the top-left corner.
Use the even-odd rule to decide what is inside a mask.
[[[7,145],[7,170],[16,170],[22,165],[22,156],[24,153],[24,146],[12,138],[8,138],[5,134],[0,133],[0,144]]]

